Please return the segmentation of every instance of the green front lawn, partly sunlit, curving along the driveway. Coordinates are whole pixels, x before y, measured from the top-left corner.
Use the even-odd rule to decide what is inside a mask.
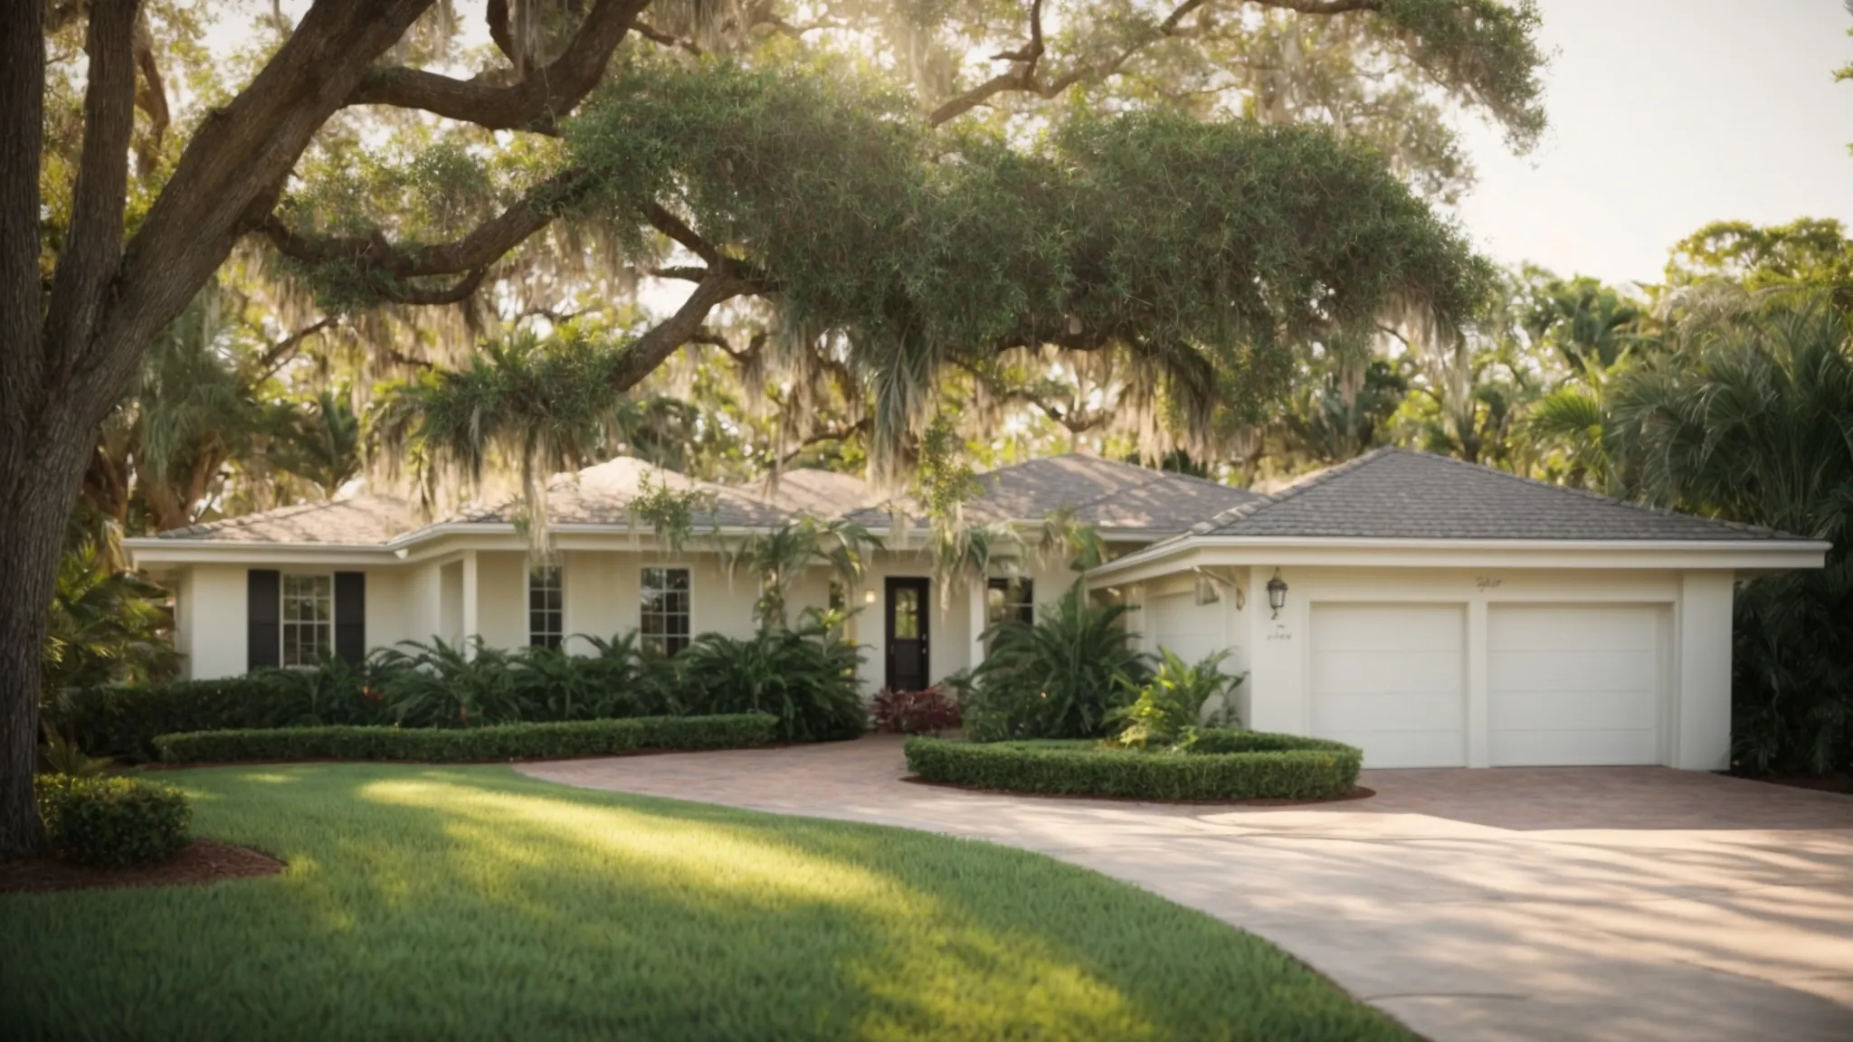
[[[1408,1038],[1254,936],[1008,847],[498,766],[161,777],[289,871],[0,897],[7,1036]]]

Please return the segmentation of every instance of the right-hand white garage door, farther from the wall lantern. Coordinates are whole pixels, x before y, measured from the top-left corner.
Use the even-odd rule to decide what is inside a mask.
[[[1658,762],[1658,623],[1642,606],[1490,606],[1492,764]]]

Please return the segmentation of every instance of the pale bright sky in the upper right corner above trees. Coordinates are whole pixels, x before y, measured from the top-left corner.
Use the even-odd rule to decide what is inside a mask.
[[[1503,263],[1657,282],[1708,221],[1853,226],[1853,15],[1842,0],[1540,0],[1551,130],[1469,133],[1469,234]]]

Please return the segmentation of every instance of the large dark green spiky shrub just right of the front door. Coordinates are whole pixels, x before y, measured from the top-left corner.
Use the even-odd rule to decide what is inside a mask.
[[[984,632],[990,651],[969,677],[954,680],[965,736],[1097,738],[1112,710],[1138,697],[1151,675],[1132,647],[1127,604],[1093,604],[1080,582],[1036,623],[1006,619]]]

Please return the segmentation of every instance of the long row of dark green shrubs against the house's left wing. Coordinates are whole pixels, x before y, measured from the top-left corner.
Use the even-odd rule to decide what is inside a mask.
[[[780,738],[860,734],[860,653],[828,619],[747,640],[702,636],[682,654],[643,654],[636,632],[574,638],[589,654],[406,642],[363,664],[259,669],[222,680],[65,692],[44,706],[63,742],[150,760],[154,738],[200,731],[300,727],[467,729],[519,721],[626,719],[765,710]]]

